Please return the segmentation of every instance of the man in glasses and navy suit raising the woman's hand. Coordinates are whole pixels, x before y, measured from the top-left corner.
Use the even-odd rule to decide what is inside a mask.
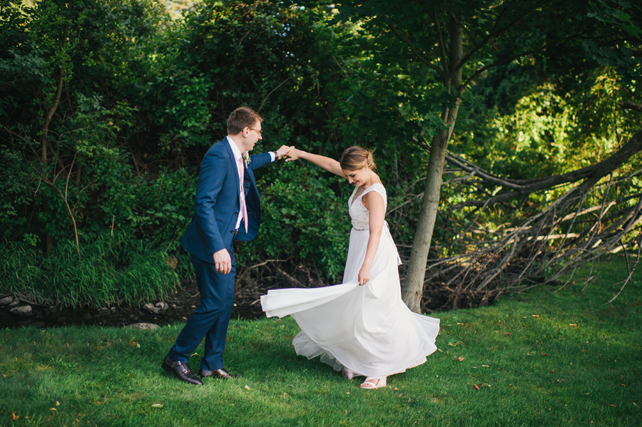
[[[240,107],[228,118],[228,136],[213,145],[200,163],[195,215],[181,245],[190,253],[200,292],[200,305],[180,331],[163,369],[180,381],[203,385],[188,365],[190,354],[205,337],[199,376],[230,379],[223,369],[223,349],[234,299],[233,240],[253,240],[261,222],[254,170],[290,150],[249,155],[261,138],[261,118]]]

